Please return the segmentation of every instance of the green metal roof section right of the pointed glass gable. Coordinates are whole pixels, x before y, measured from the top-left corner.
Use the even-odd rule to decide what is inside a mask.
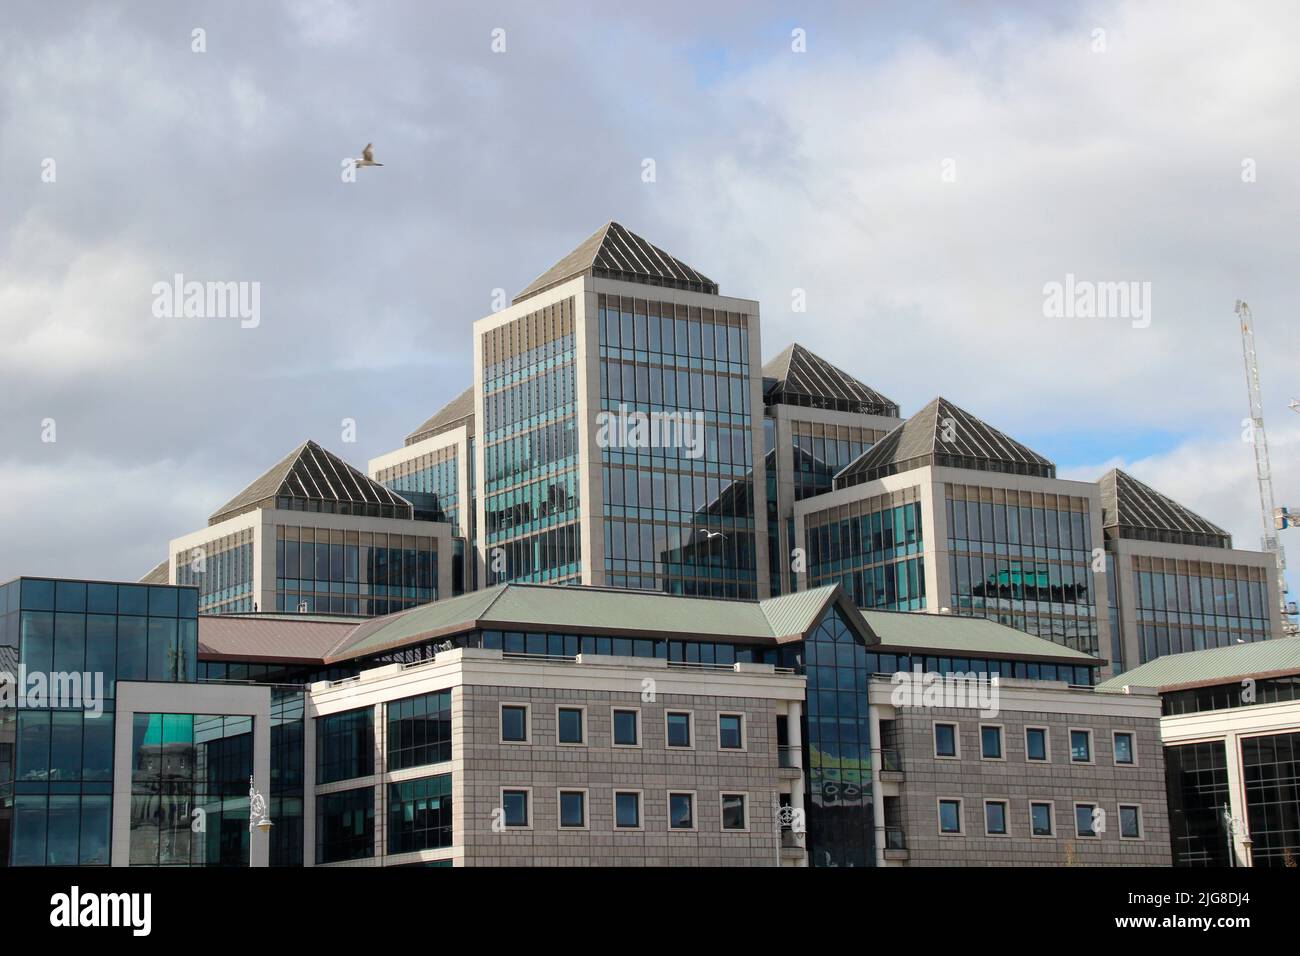
[[[1036,637],[988,618],[910,611],[862,611],[879,637],[892,648],[949,650],[966,657],[1013,657],[1036,661],[1101,662],[1082,650]]]

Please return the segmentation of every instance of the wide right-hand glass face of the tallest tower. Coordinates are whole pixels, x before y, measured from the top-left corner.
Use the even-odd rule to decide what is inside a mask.
[[[597,303],[602,411],[702,427],[696,449],[601,450],[606,581],[757,597],[751,317],[653,298]]]

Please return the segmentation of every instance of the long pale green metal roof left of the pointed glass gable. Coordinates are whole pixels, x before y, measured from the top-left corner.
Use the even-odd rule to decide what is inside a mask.
[[[767,601],[725,601],[618,588],[498,584],[367,622],[334,649],[330,659],[476,627],[670,633],[767,644],[811,628],[835,592],[836,585],[829,585]]]

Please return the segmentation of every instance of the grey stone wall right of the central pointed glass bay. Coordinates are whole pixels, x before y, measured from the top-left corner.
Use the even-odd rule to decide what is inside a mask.
[[[1019,682],[1005,682],[1008,684]],[[872,691],[879,685],[874,685]],[[887,687],[887,684],[885,684]],[[1053,685],[1049,685],[1053,687]],[[909,866],[1167,866],[1169,817],[1158,700],[1086,689],[1004,687],[1000,713],[972,708],[889,708],[885,745],[900,752],[902,779],[881,784],[897,804],[883,810],[901,825]],[[888,700],[878,696],[876,700]],[[1139,714],[1145,704],[1148,714]],[[1136,705],[1136,706],[1135,706]],[[958,757],[937,757],[935,724],[958,726]],[[1002,728],[1001,760],[982,757],[980,727]],[[1026,758],[1026,728],[1048,730],[1049,760]],[[1070,758],[1070,731],[1092,732],[1092,762]],[[1131,732],[1136,763],[1114,760],[1113,734]],[[961,799],[961,835],[942,834],[939,801]],[[1006,801],[1008,835],[987,835],[984,801]],[[1050,803],[1053,835],[1034,836],[1030,804]],[[1100,836],[1075,832],[1075,804],[1105,810]],[[1119,805],[1140,806],[1140,838],[1121,838]]]

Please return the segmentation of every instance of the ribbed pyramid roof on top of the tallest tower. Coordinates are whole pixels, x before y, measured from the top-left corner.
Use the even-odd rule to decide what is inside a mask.
[[[575,276],[616,278],[624,282],[686,289],[718,294],[718,284],[642,239],[618,222],[610,221],[589,235],[577,248],[528,284],[515,302],[567,282]]]

